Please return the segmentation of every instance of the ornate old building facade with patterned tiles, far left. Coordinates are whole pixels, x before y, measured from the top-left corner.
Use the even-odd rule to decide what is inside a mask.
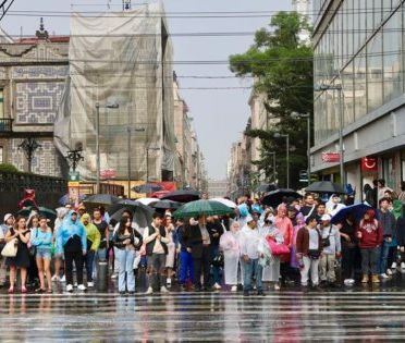
[[[53,122],[69,73],[69,37],[49,37],[41,25],[35,37],[12,40],[0,49],[0,162],[28,171],[24,139],[39,147],[30,171],[62,176],[65,162],[53,145]]]

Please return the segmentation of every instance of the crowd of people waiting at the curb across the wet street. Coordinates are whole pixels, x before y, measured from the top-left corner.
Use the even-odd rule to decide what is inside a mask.
[[[27,219],[8,213],[0,248],[15,242],[17,249],[0,259],[0,285],[16,292],[20,271],[22,293],[51,293],[52,283],[86,291],[99,278],[100,261],[108,262],[121,294],[135,293],[143,272],[146,294],[176,284],[181,291],[246,296],[293,285],[376,284],[405,271],[405,184],[400,194],[383,180],[364,191],[369,207],[339,222],[333,218],[345,208],[341,197],[323,203],[311,193],[286,197],[277,208],[243,196],[231,216],[174,219],[170,210],[155,212],[146,228],[131,210],[115,222],[103,208],[87,212],[84,205],[59,208],[54,223],[36,212]]]

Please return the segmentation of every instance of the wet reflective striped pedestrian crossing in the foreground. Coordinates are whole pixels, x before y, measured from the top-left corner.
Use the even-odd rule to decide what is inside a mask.
[[[0,294],[1,342],[405,341],[405,292]]]

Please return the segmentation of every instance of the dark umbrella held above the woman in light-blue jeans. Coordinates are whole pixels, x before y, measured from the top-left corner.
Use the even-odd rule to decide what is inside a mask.
[[[131,211],[134,217],[133,222],[139,228],[146,228],[151,223],[154,210],[139,201],[124,199],[108,208],[109,213],[111,213],[110,218],[114,221],[120,221],[125,210]]]

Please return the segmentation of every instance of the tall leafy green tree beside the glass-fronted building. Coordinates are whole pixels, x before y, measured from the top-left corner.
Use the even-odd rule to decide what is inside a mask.
[[[290,134],[291,185],[299,186],[299,170],[307,168],[306,121],[291,113],[312,117],[312,49],[299,40],[299,33],[310,30],[307,19],[296,12],[280,12],[270,21],[270,28],[256,32],[254,45],[242,54],[230,57],[230,69],[237,76],[254,76],[257,94],[265,95],[265,107],[271,125],[266,130],[246,130],[245,134],[261,139],[260,160],[254,161],[267,179],[272,170],[271,151],[277,152],[279,183],[286,184],[285,139],[274,133]],[[311,121],[312,122],[312,121]]]

